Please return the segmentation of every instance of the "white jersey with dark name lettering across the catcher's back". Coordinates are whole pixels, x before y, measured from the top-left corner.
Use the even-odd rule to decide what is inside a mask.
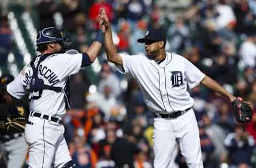
[[[36,58],[35,67],[39,61]],[[38,78],[44,81],[44,85],[65,88],[68,76],[79,72],[82,64],[82,54],[53,54],[47,57],[38,66]],[[33,70],[26,65],[17,78],[7,85],[7,92],[20,99],[29,90],[30,78]],[[62,117],[65,112],[65,95],[52,90],[43,90],[29,93],[30,111]]]

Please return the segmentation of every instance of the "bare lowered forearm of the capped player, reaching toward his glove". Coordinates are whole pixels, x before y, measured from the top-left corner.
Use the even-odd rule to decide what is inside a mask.
[[[213,91],[226,96],[229,98],[230,102],[233,102],[236,97],[231,95],[230,93],[228,93],[227,90],[225,90],[223,87],[221,87],[219,85],[219,83],[217,83],[215,80],[213,80],[212,78],[208,77],[207,75],[204,77],[204,79],[200,82],[202,85],[204,85],[207,88],[212,89]]]

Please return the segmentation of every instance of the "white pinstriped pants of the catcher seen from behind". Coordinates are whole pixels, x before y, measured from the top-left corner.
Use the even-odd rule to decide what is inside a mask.
[[[61,168],[71,160],[62,124],[35,116],[29,116],[29,121],[33,123],[25,128],[29,168]]]

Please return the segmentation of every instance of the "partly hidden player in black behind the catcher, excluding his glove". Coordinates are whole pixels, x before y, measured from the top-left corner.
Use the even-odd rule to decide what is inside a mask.
[[[14,80],[11,74],[3,74],[0,77],[0,93],[5,90],[6,85]],[[10,132],[7,131],[6,122],[9,111],[19,110],[20,113],[25,113],[25,103],[19,104],[18,108],[9,109],[8,105],[0,101],[0,153],[3,156],[7,168],[20,168],[25,162],[28,145],[26,144],[24,133],[22,131]]]

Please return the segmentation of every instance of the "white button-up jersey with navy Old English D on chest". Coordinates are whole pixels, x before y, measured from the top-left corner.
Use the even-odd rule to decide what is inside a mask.
[[[205,77],[195,65],[185,57],[174,53],[161,64],[147,56],[123,55],[121,73],[130,73],[140,85],[149,110],[157,113],[183,111],[194,105],[194,99],[187,91],[194,88]]]

